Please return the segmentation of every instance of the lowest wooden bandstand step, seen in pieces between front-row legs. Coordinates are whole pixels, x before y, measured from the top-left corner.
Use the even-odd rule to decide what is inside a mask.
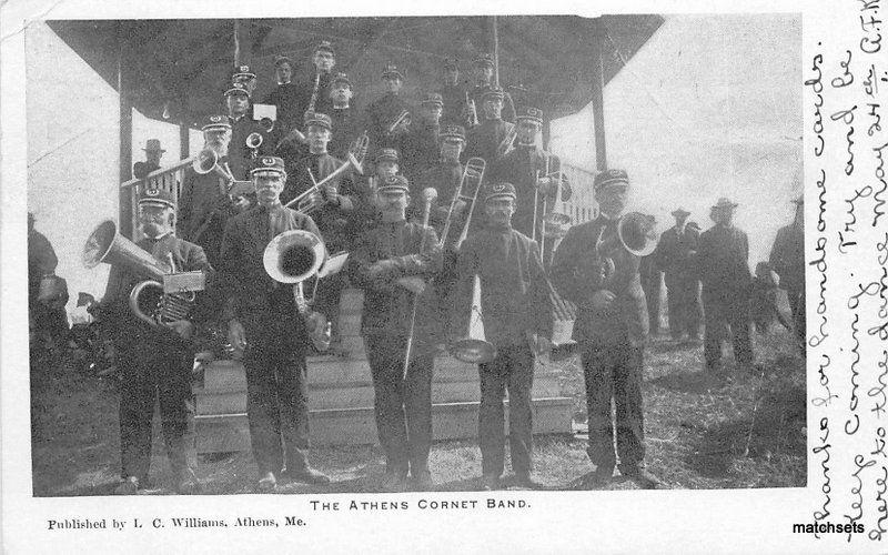
[[[506,425],[508,401],[505,402]],[[435,441],[477,436],[477,402],[441,403],[432,406]],[[534,434],[569,434],[573,400],[569,397],[533,401]],[[199,415],[194,418],[198,453],[248,451],[250,432],[246,414]],[[373,408],[314,410],[310,412],[314,445],[361,445],[377,443]]]

